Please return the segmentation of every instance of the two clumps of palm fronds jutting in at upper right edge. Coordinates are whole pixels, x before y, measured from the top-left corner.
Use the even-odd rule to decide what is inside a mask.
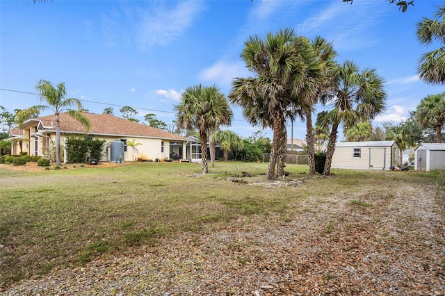
[[[423,17],[416,24],[417,40],[421,44],[429,45],[435,41],[442,43],[439,49],[423,54],[417,66],[419,77],[432,85],[445,83],[445,7],[437,6],[434,17],[435,19]]]

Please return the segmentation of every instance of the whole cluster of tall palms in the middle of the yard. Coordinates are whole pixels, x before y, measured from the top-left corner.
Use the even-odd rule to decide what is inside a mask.
[[[353,126],[384,110],[384,81],[375,69],[360,71],[350,61],[339,65],[335,56],[330,42],[311,41],[290,28],[245,42],[241,58],[254,76],[234,79],[229,99],[243,108],[248,122],[273,129],[267,179],[284,174],[286,120],[306,120],[309,172],[314,174],[312,113],[316,104],[326,106],[321,122],[331,126],[324,170],[330,174],[339,125]]]

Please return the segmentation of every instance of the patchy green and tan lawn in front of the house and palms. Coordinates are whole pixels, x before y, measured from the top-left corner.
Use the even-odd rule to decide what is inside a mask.
[[[443,172],[333,170],[333,178],[314,178],[305,165],[287,165],[291,175],[286,179],[307,177],[305,183],[267,188],[231,181],[241,172],[252,175],[246,180],[266,181],[266,163],[217,163],[209,171],[202,176],[200,165],[193,163],[41,172],[0,168],[0,290],[56,266],[131,252],[179,232],[221,229],[242,216],[278,213],[289,222],[289,213],[312,211],[300,204],[309,197],[325,203],[333,194],[343,195],[345,202],[369,207],[376,206],[373,190],[389,181],[421,186],[433,180],[445,186]],[[357,197],[357,192],[365,193]],[[332,233],[334,224],[325,229]]]

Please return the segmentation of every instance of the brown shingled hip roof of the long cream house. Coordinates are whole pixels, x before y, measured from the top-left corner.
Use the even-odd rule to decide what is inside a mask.
[[[123,118],[109,114],[83,113],[90,120],[90,131],[88,135],[115,135],[137,138],[161,138],[168,140],[187,141],[186,137],[155,129],[152,126],[131,122]],[[74,120],[67,113],[60,113],[60,132],[61,133],[85,133],[86,128],[77,120]],[[43,129],[46,131],[56,131],[56,122],[54,115],[38,117],[33,120],[39,120]]]

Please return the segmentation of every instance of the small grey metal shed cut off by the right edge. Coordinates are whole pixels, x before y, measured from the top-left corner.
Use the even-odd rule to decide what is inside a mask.
[[[414,170],[445,170],[445,144],[422,143],[414,150]]]

